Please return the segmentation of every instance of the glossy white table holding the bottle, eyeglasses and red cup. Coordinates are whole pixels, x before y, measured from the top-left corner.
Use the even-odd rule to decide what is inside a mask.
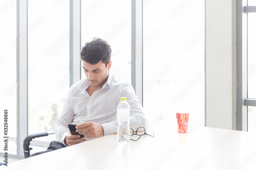
[[[124,147],[112,134],[0,169],[256,169],[254,134],[198,126],[179,136],[176,128],[163,124],[154,127],[154,138],[144,135]]]

